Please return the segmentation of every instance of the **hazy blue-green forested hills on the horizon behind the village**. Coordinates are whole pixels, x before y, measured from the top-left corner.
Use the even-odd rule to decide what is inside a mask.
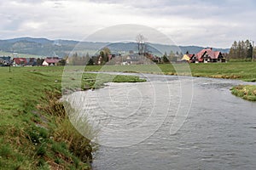
[[[53,56],[58,55],[64,57],[71,52],[84,54],[96,54],[101,48],[108,47],[112,52],[125,52],[130,50],[137,51],[136,42],[79,42],[73,40],[49,40],[47,38],[33,38],[33,37],[17,37],[13,39],[0,40],[0,51],[19,53],[19,54],[34,54],[38,56]],[[189,51],[190,54],[196,54],[201,51],[203,47],[199,46],[175,46],[159,43],[147,43],[147,50],[153,54],[170,54],[180,53],[185,54]],[[229,48],[213,48],[213,50],[228,53]]]

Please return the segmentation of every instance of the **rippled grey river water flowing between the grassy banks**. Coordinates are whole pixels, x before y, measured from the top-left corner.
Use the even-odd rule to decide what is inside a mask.
[[[73,94],[101,130],[93,169],[256,169],[256,103],[230,93],[245,82],[143,77]]]

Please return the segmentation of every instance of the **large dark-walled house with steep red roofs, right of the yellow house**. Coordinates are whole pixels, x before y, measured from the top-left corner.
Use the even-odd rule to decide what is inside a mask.
[[[212,48],[204,48],[192,57],[191,62],[225,62],[225,59],[220,51],[213,51]]]

